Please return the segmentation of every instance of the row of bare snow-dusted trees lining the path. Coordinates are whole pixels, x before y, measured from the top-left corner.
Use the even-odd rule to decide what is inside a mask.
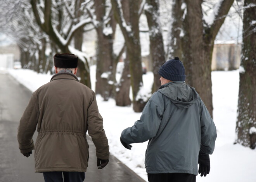
[[[197,89],[211,116],[213,116],[211,58],[214,39],[234,0],[219,0],[214,4],[202,0],[173,0],[172,2],[168,0],[0,0],[0,2],[4,7],[1,17],[5,17],[2,21],[5,23],[2,23],[1,27],[5,27],[8,32],[17,37],[17,43],[21,47],[23,65],[38,72],[47,72],[52,67],[54,53],[74,53],[79,57],[81,82],[88,87],[91,86],[90,63],[88,56],[81,50],[83,36],[86,36],[88,31],[95,31],[97,34],[95,92],[102,95],[104,100],[108,100],[110,97],[115,98],[117,105],[130,105],[129,90],[131,85],[135,112],[141,112],[147,101],[142,99],[143,95],[140,95],[140,89],[143,88],[140,17],[145,15],[154,73],[152,92],[160,86],[159,75],[157,74],[159,67],[166,60],[179,56],[186,69],[186,83]],[[237,3],[239,2],[237,0]],[[170,5],[170,3],[172,4]],[[255,0],[245,0],[244,3],[244,21],[248,21],[249,15],[246,11],[252,11],[250,16],[255,15],[253,8]],[[203,6],[213,9],[212,15],[208,15],[202,9]],[[169,37],[165,41],[166,44],[163,40],[163,26],[166,25],[161,24],[164,18],[163,12],[168,12],[165,19],[169,22],[168,26],[165,27],[168,29]],[[212,20],[204,19],[206,15],[213,17]],[[251,20],[255,19],[255,17],[251,18]],[[125,39],[119,53],[116,53],[113,48],[117,26],[121,29]],[[244,22],[244,32],[248,29],[253,31],[250,36],[255,35],[255,24]],[[244,45],[247,44],[246,40],[251,40],[250,36],[247,36],[247,39],[244,38]],[[255,39],[255,37],[252,38]],[[253,50],[251,44],[248,43],[248,46]],[[51,50],[48,54],[46,54],[47,47],[50,47]],[[248,50],[246,48],[246,53],[249,52]],[[125,67],[121,80],[117,81],[115,78],[116,65],[123,53],[126,55],[124,58]],[[245,52],[243,55],[246,55]],[[248,53],[248,56],[242,58],[242,65],[246,70],[243,74],[250,72],[255,76],[255,71],[253,72],[255,53],[253,55]],[[249,58],[249,63],[247,63],[247,58]],[[251,69],[248,66],[250,64]],[[252,80],[248,81],[248,77],[240,75],[240,82],[247,79],[246,83],[252,83]],[[240,90],[242,88],[246,88],[246,86],[240,84]],[[251,127],[255,127],[255,91],[249,93],[241,91],[239,93],[239,114],[247,116],[247,111],[254,108],[250,112],[252,113],[249,119],[251,124],[245,124],[247,130],[239,128],[241,124],[237,127],[237,132],[242,131],[243,138],[246,138],[244,133]],[[240,101],[244,95],[248,94],[251,94],[251,97],[247,97],[248,102]],[[253,98],[254,102],[251,101]],[[248,107],[240,106],[248,103]],[[245,108],[246,112],[240,108]],[[239,122],[247,121],[244,117],[239,116],[239,118],[242,118],[239,119]],[[250,139],[253,139],[251,139],[250,146],[253,148],[253,146],[255,147],[256,136],[253,132],[251,135]],[[237,142],[249,145],[240,139]],[[253,142],[254,145],[251,144]]]

